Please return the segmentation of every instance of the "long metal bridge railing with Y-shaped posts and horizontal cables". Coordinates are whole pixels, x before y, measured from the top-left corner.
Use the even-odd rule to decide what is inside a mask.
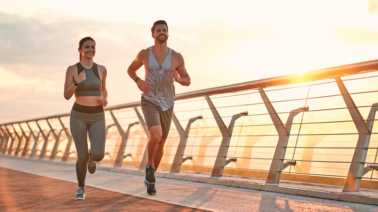
[[[378,60],[178,94],[159,169],[378,189]],[[144,169],[139,102],[105,109],[101,163]],[[76,160],[70,113],[0,124],[0,153]]]

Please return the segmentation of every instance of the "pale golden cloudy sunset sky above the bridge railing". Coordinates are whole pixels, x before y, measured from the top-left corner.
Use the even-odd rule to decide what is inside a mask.
[[[0,0],[0,124],[68,113],[67,67],[96,41],[108,106],[140,101],[126,70],[165,20],[198,91],[376,60],[378,0]],[[137,72],[143,78],[144,69]]]

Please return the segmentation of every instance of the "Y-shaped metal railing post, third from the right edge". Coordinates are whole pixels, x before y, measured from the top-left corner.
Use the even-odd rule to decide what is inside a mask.
[[[215,159],[215,164],[211,172],[211,177],[218,177],[218,176],[222,176],[223,169],[226,164],[226,157],[227,157],[228,147],[231,141],[232,131],[234,129],[234,123],[236,119],[240,118],[241,116],[248,115],[248,112],[242,112],[242,113],[234,115],[233,118],[231,119],[229,127],[227,128],[221,116],[219,115],[217,109],[212,103],[210,97],[205,96],[205,99],[207,101],[207,104],[210,107],[211,112],[213,113],[215,121],[217,122],[218,127],[221,130],[221,134],[222,134],[221,146],[219,147],[218,155],[217,155],[217,158]]]

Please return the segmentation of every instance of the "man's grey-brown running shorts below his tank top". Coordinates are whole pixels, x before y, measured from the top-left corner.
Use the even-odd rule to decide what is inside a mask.
[[[159,106],[147,101],[143,96],[141,106],[148,129],[160,125],[163,133],[161,138],[166,139],[168,137],[169,128],[171,127],[173,106],[166,111],[162,111]]]

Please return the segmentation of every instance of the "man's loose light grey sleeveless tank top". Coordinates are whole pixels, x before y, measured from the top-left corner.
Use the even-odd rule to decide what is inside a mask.
[[[174,100],[176,100],[173,78],[167,74],[172,68],[172,49],[169,49],[168,55],[161,65],[155,60],[152,46],[149,48],[149,51],[148,76],[144,80],[148,83],[149,89],[147,92],[143,92],[142,96],[147,101],[159,106],[161,110],[166,111],[173,106]]]

